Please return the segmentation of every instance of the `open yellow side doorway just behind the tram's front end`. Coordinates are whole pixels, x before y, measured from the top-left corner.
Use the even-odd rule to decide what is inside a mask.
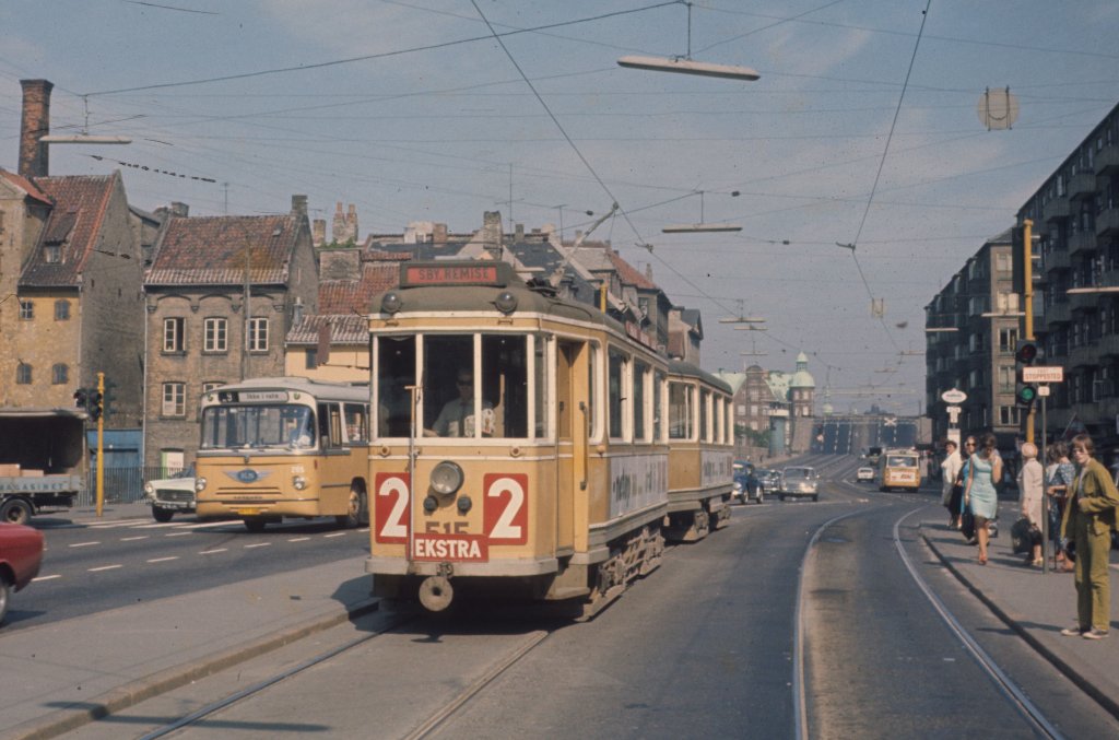
[[[575,545],[575,498],[586,489],[586,434],[590,402],[586,397],[586,345],[560,341],[556,368],[556,550]]]

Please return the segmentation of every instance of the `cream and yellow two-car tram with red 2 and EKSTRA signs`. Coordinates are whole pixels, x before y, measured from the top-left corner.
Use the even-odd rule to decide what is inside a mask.
[[[376,596],[438,611],[500,594],[590,616],[659,565],[666,532],[705,533],[728,500],[730,446],[721,488],[702,485],[695,451],[700,465],[680,468],[696,483],[673,483],[669,376],[689,371],[637,327],[489,261],[405,263],[374,310]],[[695,404],[677,413],[698,428]]]

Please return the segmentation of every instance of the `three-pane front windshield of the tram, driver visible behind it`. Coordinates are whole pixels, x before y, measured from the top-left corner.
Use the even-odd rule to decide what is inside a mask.
[[[378,336],[375,346],[379,437],[408,437],[413,430],[417,437],[446,438],[547,433],[545,345],[535,337]]]

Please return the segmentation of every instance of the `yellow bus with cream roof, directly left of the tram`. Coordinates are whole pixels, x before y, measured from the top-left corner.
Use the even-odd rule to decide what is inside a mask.
[[[283,517],[368,523],[369,386],[302,377],[224,385],[201,400],[198,516],[250,532]]]

